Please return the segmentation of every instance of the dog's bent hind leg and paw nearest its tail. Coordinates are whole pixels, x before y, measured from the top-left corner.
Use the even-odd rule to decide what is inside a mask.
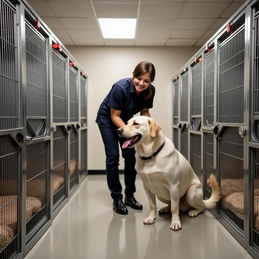
[[[200,183],[193,184],[188,188],[185,194],[185,201],[194,208],[188,212],[189,217],[196,217],[203,212],[203,191]]]

